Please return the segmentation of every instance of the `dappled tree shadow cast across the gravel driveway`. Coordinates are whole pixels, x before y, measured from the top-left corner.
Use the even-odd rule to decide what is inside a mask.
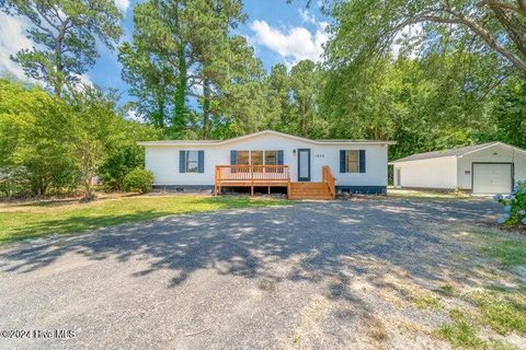
[[[136,276],[173,269],[179,272],[171,281],[174,287],[203,268],[278,280],[283,277],[272,276],[265,265],[293,256],[301,259],[288,278],[301,279],[308,270],[316,271],[310,273],[316,281],[338,275],[342,265],[352,267],[342,258],[361,257],[387,260],[413,276],[436,279],[437,268],[453,264],[446,256],[464,249],[450,234],[488,219],[494,210],[493,203],[484,201],[370,199],[168,217],[15,245],[0,250],[0,268],[33,271],[67,253],[96,260],[116,257],[122,262],[140,254],[152,262]],[[70,219],[68,224],[76,225],[76,220],[80,219]],[[364,264],[354,270],[363,273]]]

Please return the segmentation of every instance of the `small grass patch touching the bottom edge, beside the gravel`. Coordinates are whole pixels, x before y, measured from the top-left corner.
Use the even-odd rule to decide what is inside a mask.
[[[454,348],[462,349],[485,349],[487,343],[477,336],[477,329],[471,322],[458,308],[449,313],[453,323],[442,325],[438,336],[451,343]]]

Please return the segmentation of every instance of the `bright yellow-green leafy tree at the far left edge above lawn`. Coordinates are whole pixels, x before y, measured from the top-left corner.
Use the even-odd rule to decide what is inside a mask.
[[[78,167],[69,156],[68,128],[68,108],[60,100],[0,80],[0,172],[27,184],[34,195],[75,187]]]

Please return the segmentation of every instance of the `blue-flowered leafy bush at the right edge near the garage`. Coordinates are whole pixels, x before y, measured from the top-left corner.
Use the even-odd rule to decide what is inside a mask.
[[[526,182],[517,182],[510,195],[496,195],[494,199],[504,207],[504,213],[496,219],[500,224],[526,225]]]

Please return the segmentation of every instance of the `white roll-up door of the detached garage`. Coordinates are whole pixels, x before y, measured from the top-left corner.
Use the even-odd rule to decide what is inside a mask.
[[[512,190],[512,164],[473,164],[473,194],[508,194]]]

